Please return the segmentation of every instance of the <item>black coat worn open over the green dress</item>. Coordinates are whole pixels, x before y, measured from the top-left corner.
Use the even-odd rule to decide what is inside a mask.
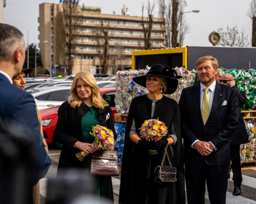
[[[76,154],[81,150],[74,148],[73,145],[77,142],[83,142],[81,120],[84,114],[89,111],[89,107],[82,104],[80,107],[72,108],[68,101],[65,101],[58,110],[58,121],[54,131],[54,139],[62,144],[58,170],[61,168],[83,168],[83,162],[80,162]],[[110,106],[103,110],[98,109],[100,125],[107,127],[114,133],[114,139],[117,136],[115,133],[112,110]],[[110,118],[106,120],[106,115],[110,114]],[[105,121],[106,120],[106,121]],[[58,171],[57,171],[58,176]],[[113,200],[113,189],[111,177],[100,177],[101,179],[101,195]]]

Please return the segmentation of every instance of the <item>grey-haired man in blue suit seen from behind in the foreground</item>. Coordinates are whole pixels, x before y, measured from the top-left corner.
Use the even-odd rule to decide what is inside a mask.
[[[47,173],[51,160],[39,132],[33,96],[12,84],[12,78],[21,72],[24,61],[23,34],[11,25],[0,23],[0,129],[6,130],[8,124],[17,124],[27,130],[36,156],[30,172],[31,183],[36,184]]]

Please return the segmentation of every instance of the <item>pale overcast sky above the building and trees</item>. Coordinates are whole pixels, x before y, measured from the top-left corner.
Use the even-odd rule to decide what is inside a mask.
[[[154,0],[150,0],[152,3]],[[4,8],[4,22],[14,25],[24,34],[27,44],[27,31],[29,31],[29,44],[38,43],[37,18],[39,17],[39,4],[59,3],[59,0],[6,0]],[[80,5],[101,7],[103,14],[121,15],[121,9],[125,4],[130,12],[130,16],[141,16],[141,7],[147,0],[81,0]],[[157,3],[157,0],[155,0]],[[208,36],[218,28],[232,27],[237,25],[248,34],[251,45],[252,21],[246,16],[251,0],[187,0],[188,6],[184,12],[199,9],[199,13],[184,14],[190,30],[185,37],[184,46],[211,46]],[[157,4],[156,4],[157,5]],[[158,7],[156,6],[154,17],[158,17]]]

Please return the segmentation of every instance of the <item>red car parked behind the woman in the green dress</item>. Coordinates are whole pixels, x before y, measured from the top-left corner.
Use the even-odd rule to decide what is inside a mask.
[[[116,113],[115,102],[114,102],[115,87],[100,88],[100,94],[111,106],[112,113],[113,113],[113,121],[114,121],[114,114]],[[39,110],[39,113],[42,118],[44,138],[47,143],[52,143],[54,141],[54,139],[52,138],[52,135],[56,128],[56,123],[58,120],[58,115],[57,115],[58,109],[59,109],[59,106]],[[56,144],[56,145],[60,146],[59,144]]]

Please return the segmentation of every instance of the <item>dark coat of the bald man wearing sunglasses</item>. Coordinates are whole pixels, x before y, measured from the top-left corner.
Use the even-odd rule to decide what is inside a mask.
[[[241,107],[246,103],[246,93],[244,91],[239,90],[236,86],[232,86],[232,88],[237,90],[237,96],[239,101],[239,106]],[[249,136],[246,131],[246,127],[243,120],[242,112],[239,114],[239,128],[236,134],[232,137],[230,145],[240,145],[249,142]]]

